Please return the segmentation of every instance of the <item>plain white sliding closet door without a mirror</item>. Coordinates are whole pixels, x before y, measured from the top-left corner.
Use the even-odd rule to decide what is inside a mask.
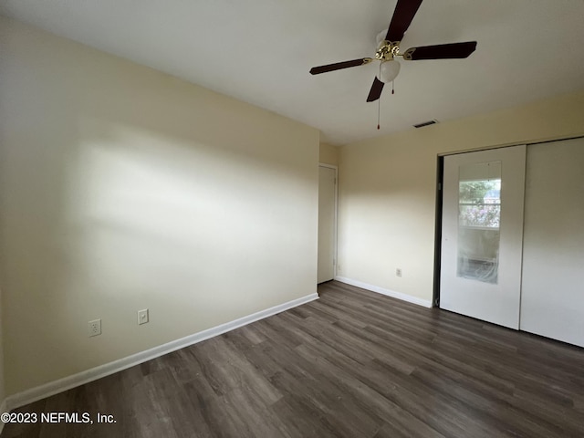
[[[584,347],[584,139],[527,149],[521,329]]]

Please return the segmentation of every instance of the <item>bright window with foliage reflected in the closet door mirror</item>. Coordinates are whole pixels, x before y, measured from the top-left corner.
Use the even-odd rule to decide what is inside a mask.
[[[501,218],[501,180],[459,183],[459,226],[498,228]]]

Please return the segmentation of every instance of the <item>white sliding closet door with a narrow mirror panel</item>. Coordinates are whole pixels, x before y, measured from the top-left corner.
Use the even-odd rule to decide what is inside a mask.
[[[526,147],[444,157],[440,307],[519,328]]]

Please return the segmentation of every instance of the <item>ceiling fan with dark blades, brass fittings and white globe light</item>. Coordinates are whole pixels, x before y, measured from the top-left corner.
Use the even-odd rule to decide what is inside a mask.
[[[411,47],[400,53],[401,38],[412,23],[413,16],[422,5],[422,0],[398,0],[390,27],[381,31],[377,36],[377,52],[375,57],[362,57],[350,61],[337,62],[326,66],[310,68],[310,74],[318,75],[328,71],[340,70],[342,68],[358,67],[369,64],[371,61],[381,61],[379,78],[373,79],[373,85],[367,97],[368,102],[380,99],[383,85],[391,82],[400,72],[400,63],[394,57],[402,57],[407,61],[418,61],[421,59],[454,59],[469,57],[476,48],[476,41],[464,43],[439,44],[434,46]],[[385,35],[383,35],[385,34]]]

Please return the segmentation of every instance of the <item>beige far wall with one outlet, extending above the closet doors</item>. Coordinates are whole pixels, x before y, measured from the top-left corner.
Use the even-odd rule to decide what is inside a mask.
[[[340,148],[338,275],[431,300],[437,155],[577,135],[584,91]]]

